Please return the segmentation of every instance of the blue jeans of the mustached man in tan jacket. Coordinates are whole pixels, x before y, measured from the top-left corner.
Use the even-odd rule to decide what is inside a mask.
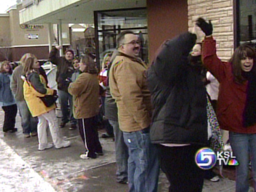
[[[156,146],[149,133],[123,132],[128,146],[128,182],[130,192],[157,192],[159,162]]]

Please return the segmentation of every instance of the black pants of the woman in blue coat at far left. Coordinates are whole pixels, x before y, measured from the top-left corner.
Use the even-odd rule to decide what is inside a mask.
[[[2,106],[2,109],[4,110],[4,126],[3,131],[7,132],[14,129],[15,126],[15,118],[17,115],[17,105],[8,105],[8,106]]]

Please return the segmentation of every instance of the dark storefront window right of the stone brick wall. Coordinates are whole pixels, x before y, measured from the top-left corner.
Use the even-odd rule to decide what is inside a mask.
[[[237,46],[256,47],[256,0],[237,0]]]

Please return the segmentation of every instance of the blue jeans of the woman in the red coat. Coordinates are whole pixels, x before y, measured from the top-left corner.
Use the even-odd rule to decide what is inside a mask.
[[[236,192],[248,192],[249,160],[252,162],[252,177],[256,183],[256,134],[230,132],[229,139],[233,154],[239,163],[236,166]]]

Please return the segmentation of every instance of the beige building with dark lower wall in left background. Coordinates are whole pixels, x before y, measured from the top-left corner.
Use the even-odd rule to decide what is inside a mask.
[[[19,61],[27,52],[40,60],[48,58],[48,24],[20,24],[19,11],[22,8],[20,3],[9,8],[8,13],[0,14],[0,61]],[[52,42],[57,45],[57,32],[53,34]],[[68,24],[62,25],[62,34],[64,46],[70,46]]]

